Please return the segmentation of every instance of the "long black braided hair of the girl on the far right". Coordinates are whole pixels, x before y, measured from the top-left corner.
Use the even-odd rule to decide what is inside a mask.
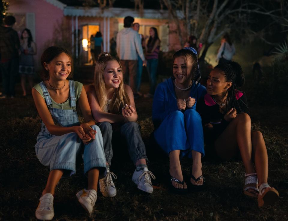
[[[237,113],[243,113],[243,110],[236,98],[237,91],[245,82],[242,67],[237,62],[230,61],[226,64],[218,64],[214,69],[218,69],[224,73],[226,82],[232,82],[232,86],[228,90],[226,112],[233,107],[236,109]],[[247,107],[244,102],[243,104]]]

